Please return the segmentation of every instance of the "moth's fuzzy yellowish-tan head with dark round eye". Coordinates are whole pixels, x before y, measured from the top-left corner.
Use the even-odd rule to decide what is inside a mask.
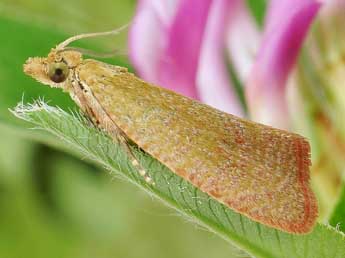
[[[30,57],[24,64],[24,72],[43,84],[68,91],[72,70],[81,61],[78,51],[52,49],[47,57]]]

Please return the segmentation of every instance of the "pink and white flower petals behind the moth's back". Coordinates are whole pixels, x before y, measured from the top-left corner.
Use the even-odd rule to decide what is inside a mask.
[[[271,0],[261,33],[243,0],[139,0],[131,60],[147,81],[287,128],[287,80],[320,6],[316,0]]]

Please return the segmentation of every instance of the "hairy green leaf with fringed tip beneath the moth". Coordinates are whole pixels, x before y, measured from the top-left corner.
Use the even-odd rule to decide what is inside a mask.
[[[19,105],[14,114],[33,123],[35,128],[49,131],[68,143],[71,149],[136,184],[255,257],[345,257],[345,236],[336,229],[318,224],[310,234],[293,235],[263,226],[215,201],[132,146],[155,182],[154,186],[146,184],[122,149],[79,115],[68,114],[42,101]]]

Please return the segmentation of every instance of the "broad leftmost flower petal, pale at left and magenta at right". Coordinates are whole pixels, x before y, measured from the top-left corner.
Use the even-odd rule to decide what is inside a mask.
[[[129,48],[141,77],[198,98],[196,71],[210,3],[211,0],[139,2]]]

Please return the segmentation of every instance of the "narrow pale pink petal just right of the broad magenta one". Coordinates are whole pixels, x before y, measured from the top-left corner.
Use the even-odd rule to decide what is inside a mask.
[[[201,101],[231,114],[243,116],[232,88],[225,61],[225,37],[230,15],[242,0],[213,2],[201,47],[197,89]]]

